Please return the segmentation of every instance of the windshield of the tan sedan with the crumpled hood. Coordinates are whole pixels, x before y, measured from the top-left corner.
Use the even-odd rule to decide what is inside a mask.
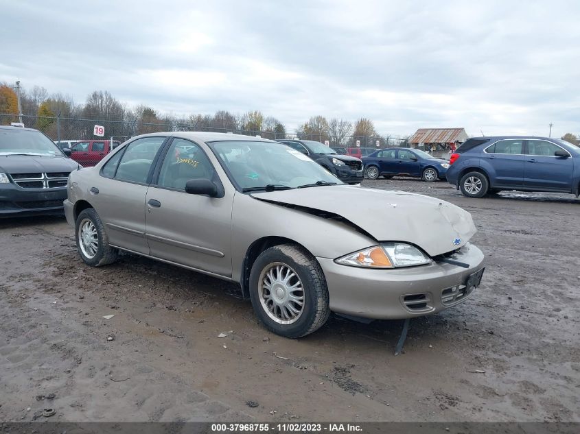
[[[208,145],[239,189],[266,185],[296,188],[319,181],[343,184],[308,156],[280,143],[225,141]]]

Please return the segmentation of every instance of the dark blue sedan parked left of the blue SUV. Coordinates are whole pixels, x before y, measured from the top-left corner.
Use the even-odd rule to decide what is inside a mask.
[[[427,182],[444,180],[449,167],[447,160],[435,158],[419,149],[390,147],[379,149],[373,154],[362,157],[364,173],[371,180],[384,176],[387,179],[395,175],[414,176]]]

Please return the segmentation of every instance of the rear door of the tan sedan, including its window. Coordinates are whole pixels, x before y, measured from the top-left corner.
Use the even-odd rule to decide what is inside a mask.
[[[120,149],[101,170],[98,185],[89,186],[89,202],[105,225],[109,243],[149,254],[145,238],[145,198],[153,162],[165,137],[139,138]],[[150,145],[150,154],[139,152]]]

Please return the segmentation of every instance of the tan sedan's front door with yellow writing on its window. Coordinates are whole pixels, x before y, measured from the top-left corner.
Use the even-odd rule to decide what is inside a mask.
[[[156,182],[146,197],[146,232],[151,256],[196,269],[231,276],[232,193],[224,197],[188,194],[194,179],[219,182],[199,145],[174,138]]]

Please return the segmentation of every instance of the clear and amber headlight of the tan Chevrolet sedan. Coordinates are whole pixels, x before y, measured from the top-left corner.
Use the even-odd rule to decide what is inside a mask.
[[[394,268],[424,265],[431,262],[421,250],[405,243],[382,243],[337,258],[336,263],[368,268]]]

